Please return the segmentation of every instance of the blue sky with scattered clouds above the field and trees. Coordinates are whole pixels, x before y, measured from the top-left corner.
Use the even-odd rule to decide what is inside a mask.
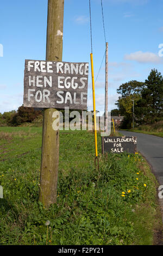
[[[48,0],[1,0],[0,113],[23,104],[25,59],[46,58]],[[163,0],[103,0],[109,45],[108,110],[117,108],[117,88],[131,80],[144,82],[152,69],[163,75]],[[95,80],[105,53],[101,0],[91,0]],[[89,0],[65,0],[63,62],[89,62],[87,107],[92,110]],[[160,46],[163,48],[163,45]],[[159,54],[160,51],[160,54]],[[103,113],[105,58],[96,84],[96,109]]]

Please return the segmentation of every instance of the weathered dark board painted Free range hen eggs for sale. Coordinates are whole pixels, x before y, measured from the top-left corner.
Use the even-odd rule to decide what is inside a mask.
[[[25,60],[24,107],[87,109],[88,63]]]

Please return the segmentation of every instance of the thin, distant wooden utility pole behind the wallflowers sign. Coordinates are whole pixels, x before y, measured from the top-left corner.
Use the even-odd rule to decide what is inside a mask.
[[[105,132],[108,132],[108,42],[105,56]]]

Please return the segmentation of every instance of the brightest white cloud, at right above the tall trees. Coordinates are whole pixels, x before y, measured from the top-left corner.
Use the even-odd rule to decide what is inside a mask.
[[[126,60],[135,60],[136,62],[139,62],[139,63],[151,63],[151,62],[159,63],[159,62],[161,62],[161,59],[155,53],[153,53],[153,52],[142,52],[142,51],[126,54],[124,56],[124,59],[126,59]]]

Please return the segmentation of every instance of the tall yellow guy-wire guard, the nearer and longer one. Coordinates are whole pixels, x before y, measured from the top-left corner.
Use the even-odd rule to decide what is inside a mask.
[[[94,80],[94,71],[93,71],[93,54],[91,56],[91,71],[92,71],[92,93],[93,93],[93,113],[94,113],[94,131],[95,131],[95,154],[97,153],[97,126],[96,126],[96,104],[95,104],[95,80]]]

